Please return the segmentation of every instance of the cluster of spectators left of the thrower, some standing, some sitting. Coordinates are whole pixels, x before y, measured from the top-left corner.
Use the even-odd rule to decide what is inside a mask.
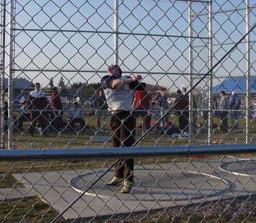
[[[29,93],[27,99],[23,98],[20,103],[22,106],[20,106],[20,115],[15,120],[15,126],[23,132],[25,130],[23,122],[30,122],[28,132],[31,136],[34,136],[37,131],[43,136],[48,136],[49,128],[60,131],[65,126],[69,126],[75,130],[79,125],[78,130],[81,130],[86,126],[85,114],[76,101],[67,111],[67,120],[64,120],[64,106],[58,87],[53,87],[50,101],[48,101],[47,95],[37,82],[35,89]]]

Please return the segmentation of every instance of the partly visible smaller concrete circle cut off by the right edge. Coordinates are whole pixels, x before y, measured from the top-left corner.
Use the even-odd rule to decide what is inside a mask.
[[[256,176],[256,160],[239,160],[223,163],[220,168],[222,171],[238,176]]]

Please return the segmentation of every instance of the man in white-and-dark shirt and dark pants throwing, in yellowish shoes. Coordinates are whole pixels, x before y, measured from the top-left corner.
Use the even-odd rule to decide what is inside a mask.
[[[122,77],[121,68],[116,65],[108,67],[108,75],[102,77],[102,86],[106,95],[108,108],[112,112],[110,131],[113,147],[132,146],[135,143],[135,117],[132,111],[132,90],[165,91],[165,87],[148,85],[140,82],[142,77]],[[113,179],[106,184],[113,186],[123,183],[122,193],[128,193],[134,184],[133,159],[119,159],[115,165]]]

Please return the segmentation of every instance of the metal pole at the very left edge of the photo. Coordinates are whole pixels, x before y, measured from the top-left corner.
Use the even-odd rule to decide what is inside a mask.
[[[2,15],[1,15],[1,77],[0,77],[0,91],[1,91],[1,101],[0,101],[0,106],[1,106],[1,149],[4,149],[4,71],[5,71],[5,36],[6,34],[6,0],[3,1],[3,6],[2,6]]]

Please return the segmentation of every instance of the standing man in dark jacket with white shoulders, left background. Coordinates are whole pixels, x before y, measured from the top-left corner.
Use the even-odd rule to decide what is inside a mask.
[[[41,90],[41,85],[37,82],[35,85],[35,90],[29,93],[29,97],[26,102],[26,107],[31,110],[31,126],[30,134],[34,136],[34,131],[36,130],[36,124],[38,122],[38,128],[42,128],[42,133],[47,136],[48,127],[48,100],[45,93]]]

